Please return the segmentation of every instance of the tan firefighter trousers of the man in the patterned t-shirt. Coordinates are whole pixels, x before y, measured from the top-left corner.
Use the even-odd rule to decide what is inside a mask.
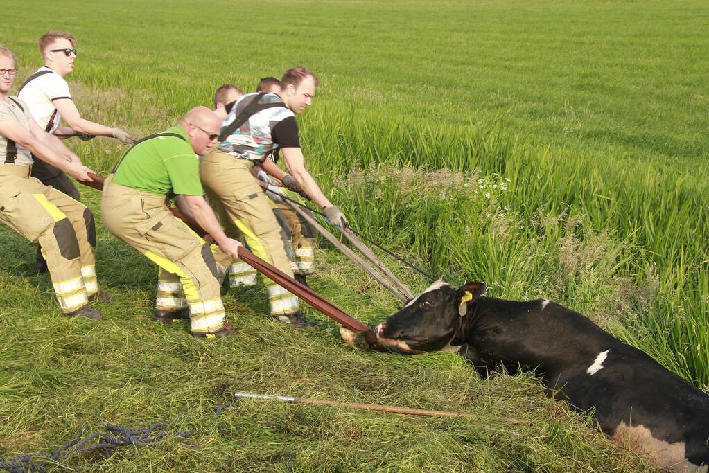
[[[292,278],[291,261],[286,255],[288,242],[284,240],[269,198],[251,174],[253,166],[252,161],[212,149],[201,159],[199,175],[209,202],[219,203],[220,208],[215,213],[225,219],[222,225],[238,227],[252,253]],[[288,317],[299,311],[298,297],[268,278],[263,278],[263,282],[273,317]]]

